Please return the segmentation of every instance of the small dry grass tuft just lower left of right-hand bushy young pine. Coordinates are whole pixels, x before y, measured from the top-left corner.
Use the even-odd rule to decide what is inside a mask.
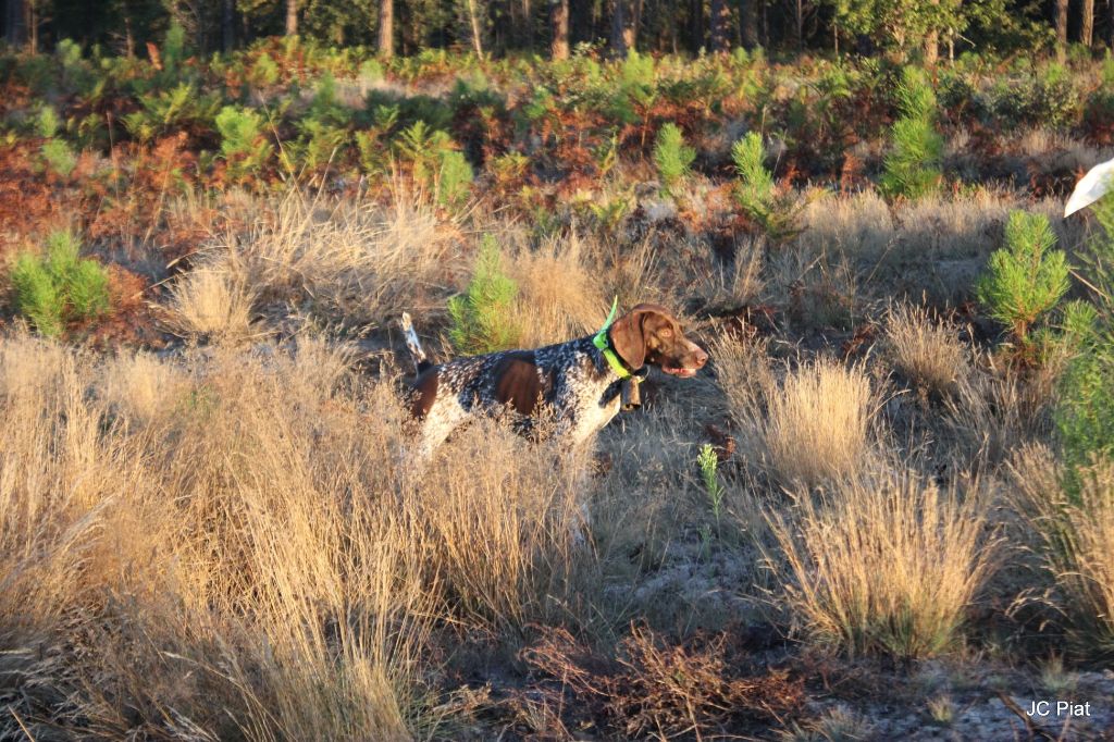
[[[928,311],[901,305],[886,318],[889,361],[930,397],[951,393],[967,372],[967,355],[955,332],[934,322]]]

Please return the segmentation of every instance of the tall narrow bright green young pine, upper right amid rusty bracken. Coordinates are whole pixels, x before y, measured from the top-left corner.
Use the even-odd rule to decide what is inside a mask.
[[[901,116],[890,130],[893,148],[883,163],[879,185],[890,198],[919,198],[935,193],[944,179],[944,137],[936,130],[936,95],[925,72],[915,67],[902,71],[897,95]]]

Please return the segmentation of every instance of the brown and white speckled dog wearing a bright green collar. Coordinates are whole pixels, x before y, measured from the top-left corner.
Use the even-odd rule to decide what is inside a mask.
[[[624,381],[644,375],[644,367],[691,378],[707,362],[707,353],[685,338],[681,323],[657,304],[638,304],[594,342],[577,338],[536,350],[514,350],[462,358],[439,365],[424,361],[417,336],[403,319],[419,374],[410,397],[410,413],[419,424],[418,453],[428,458],[459,426],[478,414],[516,413],[519,428],[548,406],[556,435],[569,447],[582,447],[619,411]],[[608,360],[605,353],[614,353]],[[615,358],[617,357],[617,358]]]

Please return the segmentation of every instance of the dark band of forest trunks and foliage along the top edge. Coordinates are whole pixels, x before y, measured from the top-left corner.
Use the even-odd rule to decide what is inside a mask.
[[[481,55],[771,50],[1032,51],[1114,46],[1114,0],[0,0],[2,39],[47,50],[61,39],[140,53],[174,22],[203,53],[274,35],[384,56],[459,47]]]

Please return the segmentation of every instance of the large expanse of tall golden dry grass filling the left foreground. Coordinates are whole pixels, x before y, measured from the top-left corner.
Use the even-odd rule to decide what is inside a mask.
[[[3,684],[33,734],[423,735],[434,616],[520,627],[579,589],[575,462],[489,426],[410,476],[348,358],[0,343]]]

